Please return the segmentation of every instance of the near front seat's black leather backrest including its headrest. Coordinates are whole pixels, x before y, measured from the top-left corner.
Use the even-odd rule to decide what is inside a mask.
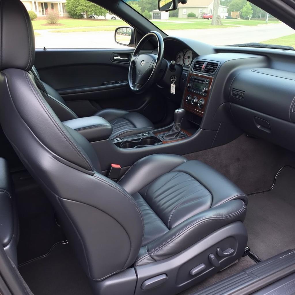
[[[35,45],[23,4],[0,0],[0,18],[1,126],[52,202],[86,274],[102,280],[134,262],[142,214],[127,191],[100,174],[90,143],[60,122],[28,73]]]

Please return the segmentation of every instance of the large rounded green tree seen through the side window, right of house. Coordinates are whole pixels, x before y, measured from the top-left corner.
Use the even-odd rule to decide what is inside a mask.
[[[105,18],[108,12],[101,6],[87,0],[67,0],[66,6],[72,18],[82,18],[84,13],[86,18],[91,14],[97,16],[102,15]]]

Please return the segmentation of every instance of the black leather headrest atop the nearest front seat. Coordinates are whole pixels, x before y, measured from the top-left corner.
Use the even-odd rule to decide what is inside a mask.
[[[29,71],[35,59],[35,36],[20,0],[0,0],[0,70]]]

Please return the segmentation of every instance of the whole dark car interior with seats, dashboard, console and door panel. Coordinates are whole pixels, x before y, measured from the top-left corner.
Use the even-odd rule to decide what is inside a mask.
[[[294,294],[295,50],[93,2],[128,46],[36,49],[0,0],[0,293]],[[293,0],[250,2],[295,28]]]

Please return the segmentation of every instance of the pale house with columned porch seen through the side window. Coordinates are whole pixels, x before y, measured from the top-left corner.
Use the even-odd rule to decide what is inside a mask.
[[[66,0],[51,0],[50,2],[23,0],[22,3],[28,11],[32,10],[36,12],[38,17],[45,16],[46,9],[57,10],[61,17],[69,16],[65,6]]]

